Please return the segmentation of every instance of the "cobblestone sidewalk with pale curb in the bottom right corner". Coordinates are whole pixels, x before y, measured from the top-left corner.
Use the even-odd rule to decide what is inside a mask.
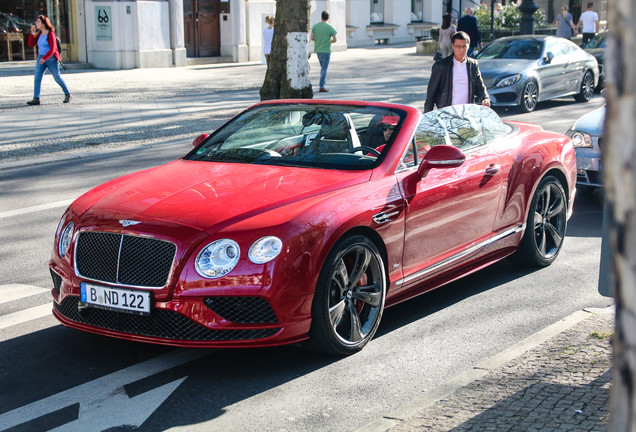
[[[358,432],[604,432],[613,324],[575,313]]]

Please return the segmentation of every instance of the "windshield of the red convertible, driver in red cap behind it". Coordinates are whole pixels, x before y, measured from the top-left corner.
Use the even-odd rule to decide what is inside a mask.
[[[258,106],[226,123],[185,159],[367,169],[386,153],[405,116],[383,107]]]

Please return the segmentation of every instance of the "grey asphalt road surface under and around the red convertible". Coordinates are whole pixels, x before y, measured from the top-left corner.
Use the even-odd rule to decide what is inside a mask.
[[[569,98],[531,114],[500,114],[565,132],[601,104]],[[602,196],[595,193],[577,196],[552,266],[528,271],[506,260],[390,308],[374,340],[348,358],[297,346],[158,347],[67,329],[48,314],[3,326],[3,318],[50,303],[47,261],[70,200],[189,148],[158,142],[142,154],[0,171],[0,294],[9,284],[40,289],[0,302],[0,430],[356,430],[574,311],[611,304],[597,292]]]

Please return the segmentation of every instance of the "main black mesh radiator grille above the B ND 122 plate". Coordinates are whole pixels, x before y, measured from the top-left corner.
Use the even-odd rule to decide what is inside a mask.
[[[176,250],[164,240],[87,231],[77,238],[75,266],[89,279],[156,288],[166,284]]]

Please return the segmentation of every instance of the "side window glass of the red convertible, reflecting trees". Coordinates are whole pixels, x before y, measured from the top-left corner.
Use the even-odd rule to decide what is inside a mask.
[[[486,145],[511,131],[496,112],[475,105],[453,105],[424,114],[415,131],[417,161],[440,144],[452,145],[467,152]],[[412,153],[403,157],[403,165],[412,164]]]

